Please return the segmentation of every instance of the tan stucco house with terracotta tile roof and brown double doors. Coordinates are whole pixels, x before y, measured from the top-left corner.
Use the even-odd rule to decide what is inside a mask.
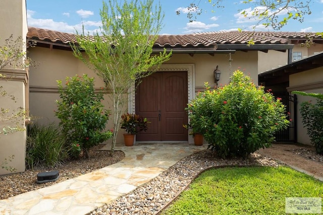
[[[56,80],[75,74],[95,75],[73,56],[69,43],[76,42],[75,35],[34,27],[28,30],[27,39],[37,42],[29,48],[28,56],[39,63],[37,68],[30,68],[30,113],[41,118],[38,123],[57,123],[53,113],[55,100],[59,98]],[[250,39],[254,45],[248,45]],[[137,135],[137,141],[191,142],[182,126],[187,123],[185,106],[196,91],[203,89],[204,82],[215,86],[213,71],[217,66],[222,71],[219,84],[227,84],[238,67],[257,82],[258,52],[281,52],[292,47],[289,39],[250,32],[160,35],[153,46],[154,52],[172,49],[172,57],[155,74],[144,79],[129,97],[128,112],[147,117],[151,122],[145,134]],[[95,80],[98,89],[103,86],[99,78]],[[105,102],[109,107],[109,99]]]

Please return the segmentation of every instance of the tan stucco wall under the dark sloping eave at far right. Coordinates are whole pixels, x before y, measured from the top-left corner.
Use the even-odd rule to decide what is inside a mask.
[[[290,90],[300,90],[304,92],[323,93],[323,67],[308,70],[302,73],[296,73],[290,75]],[[302,118],[300,114],[300,104],[303,101],[312,100],[315,102],[315,98],[310,96],[297,95],[297,140],[303,144],[310,144],[310,139],[307,135],[307,129],[303,127]]]

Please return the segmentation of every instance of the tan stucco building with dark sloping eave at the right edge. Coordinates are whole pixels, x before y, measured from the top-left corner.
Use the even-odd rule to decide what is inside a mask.
[[[319,40],[321,41],[321,40]],[[293,135],[295,141],[310,144],[307,129],[304,128],[300,114],[300,104],[303,101],[315,99],[309,96],[291,94],[292,91],[323,93],[323,51],[294,61],[288,65],[281,66],[259,74],[259,82],[265,82],[281,95],[287,96],[292,119],[294,120]]]

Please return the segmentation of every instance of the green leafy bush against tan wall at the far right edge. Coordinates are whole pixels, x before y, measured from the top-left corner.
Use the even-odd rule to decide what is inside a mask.
[[[317,98],[315,104],[310,101],[302,102],[300,112],[302,122],[304,127],[307,128],[307,134],[315,147],[316,153],[323,155],[323,94],[299,91],[293,93]]]

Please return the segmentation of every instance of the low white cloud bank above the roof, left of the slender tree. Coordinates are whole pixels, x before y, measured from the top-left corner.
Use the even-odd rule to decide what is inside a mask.
[[[43,29],[61,31],[66,33],[75,33],[76,31],[81,33],[82,26],[84,25],[85,33],[89,32],[90,34],[92,34],[93,32],[96,32],[96,31],[99,32],[100,30],[99,26],[101,26],[100,21],[84,21],[75,25],[70,25],[66,22],[57,22],[53,19],[35,19],[33,18],[34,14],[35,14],[34,11],[27,10],[28,26],[30,27],[43,28]]]

